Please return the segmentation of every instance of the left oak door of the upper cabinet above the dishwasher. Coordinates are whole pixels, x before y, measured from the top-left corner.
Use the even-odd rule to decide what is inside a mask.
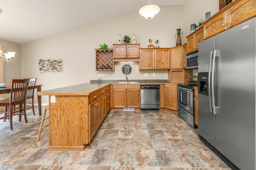
[[[155,57],[154,49],[140,49],[139,69],[153,70],[154,57]]]

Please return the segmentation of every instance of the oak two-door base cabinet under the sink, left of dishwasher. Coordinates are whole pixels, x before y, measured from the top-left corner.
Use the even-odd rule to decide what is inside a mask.
[[[140,108],[140,85],[113,85],[113,107]]]

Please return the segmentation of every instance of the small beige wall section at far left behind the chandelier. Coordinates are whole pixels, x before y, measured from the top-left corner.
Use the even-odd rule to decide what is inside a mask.
[[[21,55],[20,55],[20,44],[13,43],[11,41],[6,41],[4,39],[0,39],[0,45],[6,48],[6,52],[12,51],[16,52],[14,59],[12,62],[5,63],[4,62],[4,84],[10,85],[12,83],[12,79],[21,78]],[[1,59],[2,60],[2,59]]]

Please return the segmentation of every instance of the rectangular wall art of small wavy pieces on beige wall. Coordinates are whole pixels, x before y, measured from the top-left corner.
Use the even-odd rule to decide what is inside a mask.
[[[62,60],[57,59],[57,60],[53,60],[53,59],[48,59],[48,60],[43,60],[40,59],[38,60],[38,66],[39,66],[39,70],[40,72],[60,72],[60,70],[62,69]]]

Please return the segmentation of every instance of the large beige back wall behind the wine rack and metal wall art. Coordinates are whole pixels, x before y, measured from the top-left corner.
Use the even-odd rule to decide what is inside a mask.
[[[98,71],[95,70],[95,50],[100,44],[106,43],[109,48],[116,43],[118,33],[121,37],[136,34],[137,43],[141,48],[149,45],[148,39],[155,41],[158,39],[160,47],[174,47],[176,39],[174,37],[176,29],[184,30],[184,25],[190,26],[191,23],[199,21],[201,18],[188,18],[188,6],[195,9],[198,6],[208,6],[210,3],[202,3],[212,0],[187,0],[184,6],[160,6],[160,13],[151,20],[146,20],[138,14],[138,11],[116,16],[108,20],[100,21],[77,29],[72,29],[64,33],[59,33],[38,39],[21,45],[21,77],[37,77],[37,84],[43,84],[42,90],[81,84],[96,80]],[[193,2],[193,3],[191,3]],[[212,4],[210,4],[212,5]],[[218,2],[216,3],[218,7]],[[202,6],[204,9],[205,7]],[[204,16],[203,10],[200,16]],[[86,19],[86,18],[85,18]],[[185,29],[186,30],[186,29]],[[186,34],[186,33],[185,33]],[[183,36],[183,42],[186,36]],[[62,59],[63,69],[61,72],[39,73],[39,59]],[[103,77],[103,80],[122,79],[121,68],[125,62],[116,62],[114,74]],[[133,79],[168,79],[167,70],[139,70],[138,62],[129,62],[132,66],[132,73],[128,75],[128,80]],[[111,73],[111,72],[110,72]],[[144,76],[148,73],[148,77]],[[152,73],[156,76],[153,77]],[[42,103],[48,103],[48,97],[42,97]]]

